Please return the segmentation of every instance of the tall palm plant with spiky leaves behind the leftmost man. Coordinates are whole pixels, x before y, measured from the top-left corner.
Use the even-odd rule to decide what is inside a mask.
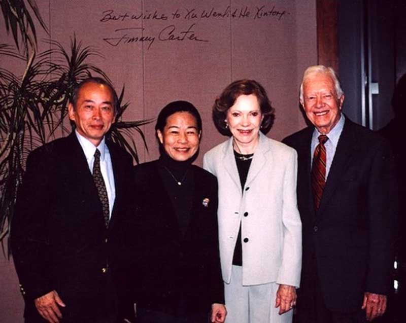
[[[27,1],[41,25],[46,28],[35,1]],[[28,153],[56,136],[71,131],[66,126],[69,125],[66,122],[66,107],[76,84],[92,74],[110,80],[103,70],[89,63],[92,56],[101,55],[91,47],[82,46],[75,35],[69,51],[57,41],[49,40],[52,49],[36,57],[36,32],[24,2],[0,0],[0,5],[6,28],[12,30],[17,50],[17,26],[24,46],[20,54],[12,46],[0,44],[0,55],[26,62],[22,77],[0,68],[0,241],[3,242],[9,232],[17,189]],[[134,131],[138,132],[147,147],[140,127],[152,120],[122,121],[123,113],[128,108],[128,103],[123,103],[123,98],[124,87],[119,95],[116,122],[112,125],[109,136],[138,163],[137,147],[132,134]]]

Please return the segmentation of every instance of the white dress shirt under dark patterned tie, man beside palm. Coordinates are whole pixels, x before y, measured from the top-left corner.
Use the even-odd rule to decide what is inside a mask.
[[[114,185],[114,173],[113,173],[113,165],[111,163],[110,151],[106,145],[105,137],[103,137],[99,145],[95,147],[93,143],[91,143],[87,138],[79,134],[77,130],[75,130],[75,133],[79,140],[80,146],[82,147],[83,152],[85,153],[86,161],[87,164],[89,165],[89,170],[91,173],[93,173],[94,153],[96,151],[96,148],[100,152],[100,170],[101,175],[103,176],[103,180],[105,181],[107,196],[109,197],[109,212],[111,219],[114,200],[116,199],[116,188]]]

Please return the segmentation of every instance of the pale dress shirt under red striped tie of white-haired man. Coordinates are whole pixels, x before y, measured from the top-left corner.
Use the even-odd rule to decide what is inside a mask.
[[[339,122],[327,133],[328,140],[324,143],[324,147],[326,148],[326,181],[328,172],[330,171],[331,163],[333,162],[333,158],[335,155],[335,149],[337,148],[337,143],[339,142],[341,132],[344,128],[345,118],[344,115],[341,114]],[[317,145],[319,145],[319,135],[321,133],[314,128],[313,136],[312,136],[312,146],[311,146],[311,165],[313,165],[313,155],[314,151],[316,150]]]

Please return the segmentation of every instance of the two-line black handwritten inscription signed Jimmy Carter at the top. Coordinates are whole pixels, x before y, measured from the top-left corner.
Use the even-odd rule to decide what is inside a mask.
[[[159,10],[146,10],[145,12],[118,12],[114,9],[105,10],[101,13],[99,21],[101,23],[122,23],[130,21],[152,20],[152,21],[174,21],[165,26],[156,34],[146,32],[143,27],[117,28],[111,37],[105,37],[103,40],[110,46],[117,47],[134,43],[146,43],[147,49],[150,49],[155,42],[168,41],[191,41],[208,43],[209,40],[198,35],[197,23],[201,20],[209,19],[253,19],[264,20],[272,19],[281,21],[290,15],[289,12],[273,5],[263,5],[261,7],[231,7],[225,9],[208,9],[181,8],[173,12],[165,13]],[[188,28],[180,28],[175,24],[177,20],[194,21]]]

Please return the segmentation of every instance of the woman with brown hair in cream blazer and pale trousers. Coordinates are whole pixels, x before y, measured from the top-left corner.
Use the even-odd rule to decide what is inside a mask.
[[[219,185],[227,322],[291,322],[301,269],[296,152],[265,136],[275,115],[256,81],[226,87],[213,119],[230,136],[204,157]]]

